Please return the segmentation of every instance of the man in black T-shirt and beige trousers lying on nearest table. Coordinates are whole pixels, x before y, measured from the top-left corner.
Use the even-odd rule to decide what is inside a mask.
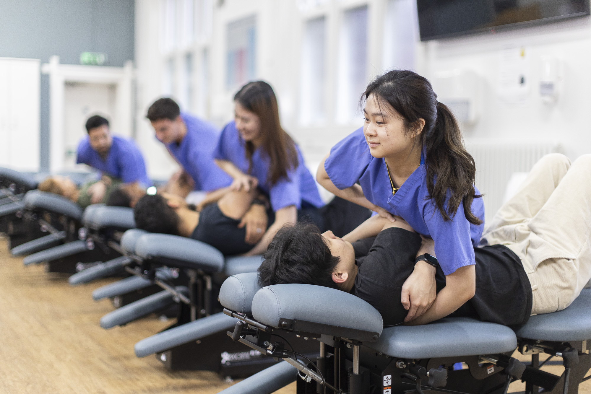
[[[573,164],[560,154],[540,159],[474,248],[472,294],[451,313],[516,325],[530,315],[568,307],[591,278],[589,179],[591,155]],[[302,283],[352,292],[381,313],[384,325],[437,320],[435,294],[457,286],[456,278],[444,276],[435,259],[423,256],[433,255],[433,240],[421,240],[401,217],[396,219],[371,217],[342,239],[330,231],[320,235],[310,225],[284,227],[265,253],[259,284]],[[407,312],[405,286],[417,269],[431,269],[430,304]]]

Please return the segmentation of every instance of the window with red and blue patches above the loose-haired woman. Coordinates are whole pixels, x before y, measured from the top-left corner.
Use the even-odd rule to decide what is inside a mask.
[[[235,89],[254,79],[256,75],[255,24],[255,16],[228,24],[228,89]]]

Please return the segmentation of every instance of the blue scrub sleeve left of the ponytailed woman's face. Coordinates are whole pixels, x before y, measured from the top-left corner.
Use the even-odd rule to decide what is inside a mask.
[[[371,159],[363,128],[359,128],[330,149],[330,156],[324,161],[324,170],[332,183],[343,190],[361,178]]]

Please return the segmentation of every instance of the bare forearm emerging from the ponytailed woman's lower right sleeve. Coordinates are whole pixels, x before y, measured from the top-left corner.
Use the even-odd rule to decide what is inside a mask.
[[[474,297],[476,289],[475,266],[458,268],[446,276],[446,286],[441,289],[433,305],[420,317],[408,322],[408,325],[427,324],[452,314]]]

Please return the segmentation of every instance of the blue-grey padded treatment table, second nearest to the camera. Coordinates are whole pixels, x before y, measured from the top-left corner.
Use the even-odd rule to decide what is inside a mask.
[[[225,257],[203,242],[164,234],[140,235],[133,243],[128,240],[131,231],[125,233],[122,246],[141,259],[126,265],[134,276],[97,289],[93,297],[120,297],[117,293],[129,294],[154,283],[164,290],[106,314],[100,320],[101,327],[125,325],[175,304],[177,323],[139,341],[135,346],[138,357],[157,354],[171,370],[212,370],[232,377],[250,376],[275,363],[226,335],[238,320],[223,314],[216,301],[223,280],[237,272],[256,272],[261,256]],[[175,283],[171,272],[176,272]],[[295,336],[290,338],[298,342]]]

